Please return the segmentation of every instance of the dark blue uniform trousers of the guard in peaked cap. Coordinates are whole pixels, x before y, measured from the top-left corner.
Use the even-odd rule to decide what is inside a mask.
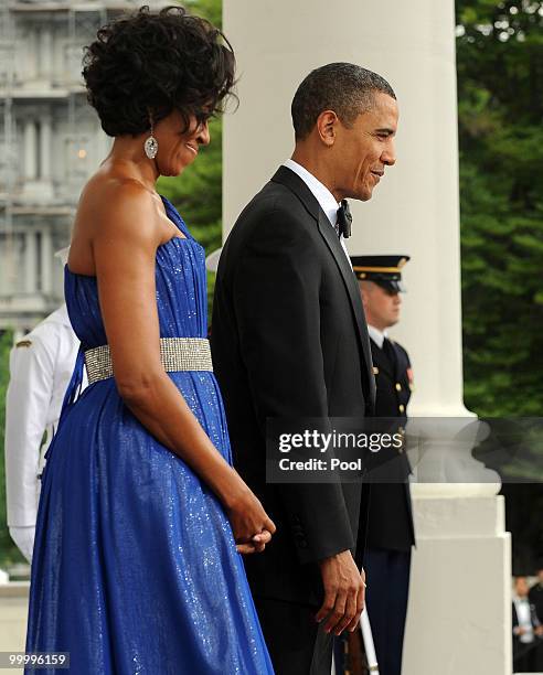
[[[401,675],[409,590],[411,550],[369,548],[365,604],[380,675]]]

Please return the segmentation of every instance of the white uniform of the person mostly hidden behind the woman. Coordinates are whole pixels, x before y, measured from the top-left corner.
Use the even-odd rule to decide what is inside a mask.
[[[79,349],[66,306],[50,314],[10,353],[6,397],[8,527],[31,561],[43,456],[61,416]]]

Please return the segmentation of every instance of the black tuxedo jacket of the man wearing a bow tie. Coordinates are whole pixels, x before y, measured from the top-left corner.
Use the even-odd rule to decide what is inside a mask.
[[[319,559],[351,549],[362,561],[368,489],[266,485],[266,419],[362,418],[375,384],[356,279],[317,200],[285,167],[224,245],[211,343],[235,467],[277,525],[266,551],[245,558],[253,592],[317,606]]]

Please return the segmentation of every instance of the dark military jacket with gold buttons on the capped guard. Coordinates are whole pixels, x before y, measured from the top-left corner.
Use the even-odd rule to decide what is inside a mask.
[[[404,427],[407,420],[407,404],[411,398],[412,374],[407,352],[397,342],[390,341],[394,360],[370,339],[373,372],[375,374],[377,417],[398,418]],[[415,529],[411,492],[407,478],[411,473],[408,459],[402,449],[381,450],[390,463],[397,482],[372,483],[368,522],[368,547],[390,550],[409,550],[415,544]],[[404,481],[402,482],[402,479]]]

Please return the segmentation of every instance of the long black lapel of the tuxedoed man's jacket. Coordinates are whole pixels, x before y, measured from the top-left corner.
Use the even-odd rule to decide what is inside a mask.
[[[317,221],[319,232],[324,239],[330,253],[332,254],[337,266],[343,277],[349,299],[351,301],[352,311],[354,314],[354,324],[359,335],[359,342],[364,355],[365,363],[365,384],[366,392],[369,394],[369,403],[372,408],[375,407],[375,378],[373,377],[373,364],[372,354],[370,349],[370,338],[368,335],[368,324],[365,322],[364,310],[362,307],[362,300],[360,298],[359,283],[356,277],[352,271],[352,267],[347,259],[345,253],[340,244],[338,235],[330,225],[326,213],[319,205],[319,202],[315,199],[312,192],[306,185],[306,183],[290,169],[286,167],[279,167],[277,172],[272,179],[277,183],[286,185],[291,190],[297,197],[305,205],[307,211]]]

